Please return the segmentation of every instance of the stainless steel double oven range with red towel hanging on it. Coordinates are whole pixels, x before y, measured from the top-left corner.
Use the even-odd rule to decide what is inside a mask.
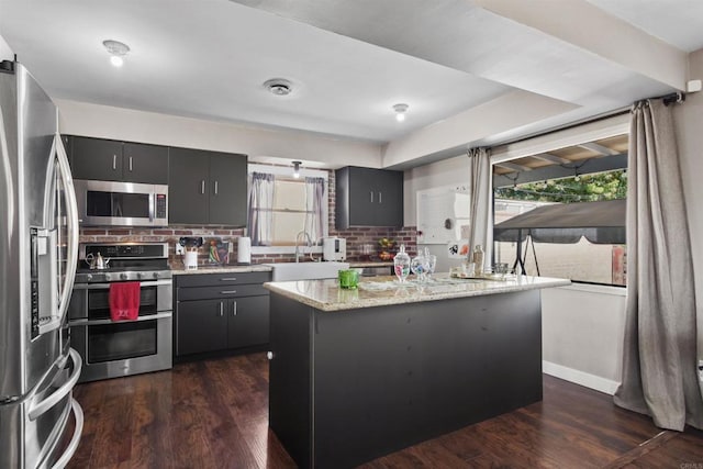
[[[108,268],[88,268],[86,258],[97,258],[98,254]],[[172,276],[168,244],[81,244],[79,264],[68,325],[71,346],[83,359],[80,381],[171,368]],[[110,286],[126,281],[140,282],[138,317],[113,322]]]

